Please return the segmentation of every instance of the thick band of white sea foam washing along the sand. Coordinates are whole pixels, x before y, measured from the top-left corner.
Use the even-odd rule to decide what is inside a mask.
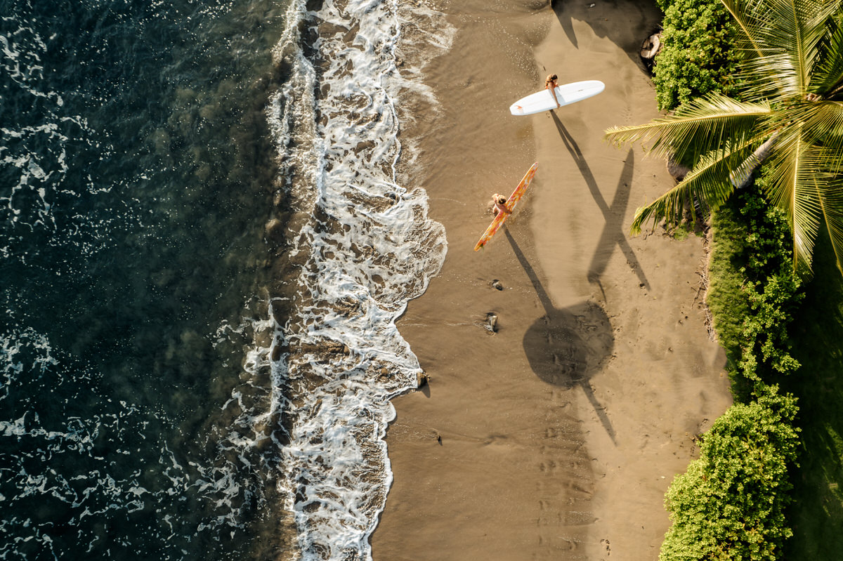
[[[402,43],[407,26],[414,40]],[[275,51],[290,75],[267,114],[293,210],[287,257],[300,267],[264,356],[280,356],[271,367],[290,427],[282,485],[304,559],[371,558],[392,480],[389,398],[415,387],[420,372],[395,320],[446,252],[420,184],[397,181],[399,165],[415,161],[402,152],[397,100],[429,103],[432,94],[420,67],[398,71],[396,52],[412,58],[419,41],[447,49],[452,33],[421,3],[326,0],[308,13],[300,1]]]

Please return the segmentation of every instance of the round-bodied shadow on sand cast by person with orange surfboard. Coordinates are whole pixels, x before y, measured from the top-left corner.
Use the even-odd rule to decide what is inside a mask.
[[[615,442],[615,429],[589,382],[615,347],[609,318],[594,302],[556,308],[506,226],[503,233],[545,307],[545,315],[524,334],[524,352],[530,368],[541,380],[554,386],[582,387],[609,438]]]

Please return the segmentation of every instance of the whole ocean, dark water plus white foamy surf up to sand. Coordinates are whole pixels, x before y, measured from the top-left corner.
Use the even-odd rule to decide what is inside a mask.
[[[417,0],[0,0],[0,559],[366,559],[447,243]]]

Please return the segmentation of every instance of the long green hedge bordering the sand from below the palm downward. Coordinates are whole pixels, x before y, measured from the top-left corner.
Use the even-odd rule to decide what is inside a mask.
[[[717,419],[700,459],[668,490],[674,523],[660,561],[773,561],[792,535],[785,509],[798,444],[796,399],[767,384],[799,367],[787,329],[803,294],[786,218],[760,194],[768,180],[762,174],[715,213],[708,298],[738,403]]]

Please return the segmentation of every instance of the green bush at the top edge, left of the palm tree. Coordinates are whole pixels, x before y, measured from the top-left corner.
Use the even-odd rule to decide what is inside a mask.
[[[738,51],[733,49],[733,23],[719,0],[663,2],[662,51],[652,81],[660,110],[709,92],[733,92]]]

